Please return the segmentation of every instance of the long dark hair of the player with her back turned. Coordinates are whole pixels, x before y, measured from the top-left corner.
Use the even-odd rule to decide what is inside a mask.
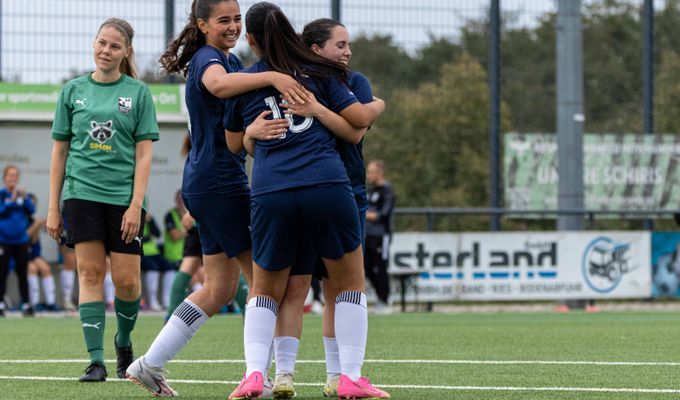
[[[277,5],[266,1],[253,4],[246,13],[246,30],[272,70],[291,75],[300,82],[305,75],[347,81],[347,66],[323,58],[305,46]]]

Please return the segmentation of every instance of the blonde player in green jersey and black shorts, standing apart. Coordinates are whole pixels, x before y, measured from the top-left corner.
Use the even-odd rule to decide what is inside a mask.
[[[130,333],[141,294],[139,236],[151,143],[158,140],[151,93],[136,79],[133,36],[127,21],[104,21],[93,46],[95,71],[64,85],[52,126],[47,230],[59,240],[63,188],[67,242],[75,246],[80,320],[90,353],[90,365],[81,382],[100,382],[107,376],[102,301],[107,253],[116,291],[118,332],[114,344],[119,377],[133,359]]]

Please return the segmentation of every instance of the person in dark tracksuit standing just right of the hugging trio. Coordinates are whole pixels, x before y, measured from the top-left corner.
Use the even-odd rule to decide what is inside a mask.
[[[392,239],[394,192],[385,180],[385,163],[371,161],[366,169],[368,210],[366,211],[366,247],[364,268],[366,277],[378,295],[376,311],[389,311],[390,282],[387,275],[389,246]]]

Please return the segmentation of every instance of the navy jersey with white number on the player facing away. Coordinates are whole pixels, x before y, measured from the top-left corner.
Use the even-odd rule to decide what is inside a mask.
[[[265,62],[258,61],[243,72],[269,70]],[[338,79],[307,79],[305,86],[320,103],[336,113],[357,102],[347,85]],[[231,132],[241,132],[262,111],[269,109],[272,117],[281,118],[284,114],[278,106],[280,102],[280,94],[274,87],[228,99],[224,127]],[[279,139],[257,141],[251,196],[323,183],[349,182],[335,146],[335,136],[318,120],[293,117],[292,125]]]

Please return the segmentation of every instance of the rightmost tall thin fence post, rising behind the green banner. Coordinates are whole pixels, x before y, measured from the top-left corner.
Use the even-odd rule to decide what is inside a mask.
[[[654,1],[645,0],[643,5],[642,44],[642,112],[643,133],[654,134]],[[654,229],[654,220],[645,219],[644,227]]]

